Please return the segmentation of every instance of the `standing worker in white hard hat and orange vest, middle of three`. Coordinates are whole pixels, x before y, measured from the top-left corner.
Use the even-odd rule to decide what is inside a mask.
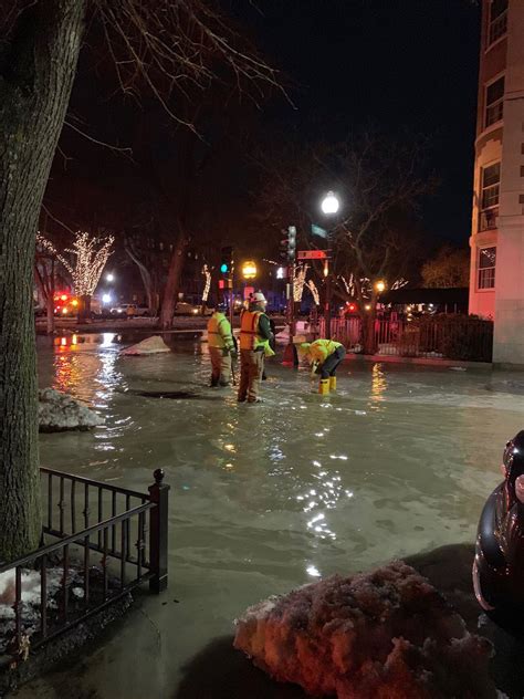
[[[249,310],[240,317],[240,385],[239,403],[260,403],[259,390],[264,357],[274,354],[271,348],[273,333],[265,315],[268,301],[263,293],[250,298]]]

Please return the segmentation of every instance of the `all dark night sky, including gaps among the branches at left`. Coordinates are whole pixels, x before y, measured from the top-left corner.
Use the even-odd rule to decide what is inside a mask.
[[[282,71],[290,101],[276,91],[263,102],[253,118],[248,112],[244,127],[252,143],[279,144],[293,132],[295,142],[338,142],[352,132],[371,127],[391,134],[425,135],[431,146],[428,171],[440,181],[420,210],[420,228],[428,238],[427,252],[451,241],[467,247],[471,221],[471,187],[479,62],[480,7],[473,0],[219,0],[232,14],[239,32]],[[95,46],[96,34],[90,36]],[[96,51],[81,54],[73,88],[71,114],[95,137],[120,146],[132,145],[140,118],[150,126],[145,134],[151,157],[177,159],[178,142],[169,139],[168,118],[156,101],[126,100],[111,84]],[[293,104],[291,104],[291,102]],[[176,107],[175,107],[176,111]],[[159,116],[160,113],[160,116]],[[164,119],[164,122],[163,122]],[[161,124],[161,127],[159,127]],[[208,134],[224,129],[222,115]],[[90,188],[113,196],[130,191],[129,163],[120,155],[64,129],[62,153],[72,159],[64,168],[55,158],[48,206],[71,226],[78,201],[93,208]],[[170,154],[170,155],[169,155]],[[243,158],[243,163],[241,160]],[[256,173],[243,154],[229,154],[223,163],[221,206],[224,212],[243,202],[249,209]],[[127,179],[126,179],[127,178]],[[64,192],[75,180],[80,195]],[[174,190],[175,191],[175,190]],[[106,205],[99,205],[102,208]],[[84,207],[84,208],[85,208]],[[210,211],[212,217],[212,212]],[[238,218],[238,217],[237,217]],[[67,219],[70,220],[70,219]],[[88,221],[87,221],[88,222]],[[217,233],[220,234],[220,233]],[[230,241],[227,241],[228,243]]]

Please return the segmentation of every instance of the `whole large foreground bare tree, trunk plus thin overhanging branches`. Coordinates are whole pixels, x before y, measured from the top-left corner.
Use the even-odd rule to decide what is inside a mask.
[[[102,29],[120,88],[147,92],[175,121],[177,90],[206,90],[219,64],[239,85],[275,83],[205,0],[0,0],[0,560],[41,533],[35,233],[87,22]]]

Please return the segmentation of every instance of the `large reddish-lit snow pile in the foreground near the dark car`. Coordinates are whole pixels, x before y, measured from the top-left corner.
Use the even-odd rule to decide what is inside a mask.
[[[394,562],[250,607],[234,646],[280,681],[338,699],[484,699],[491,645],[429,582]]]

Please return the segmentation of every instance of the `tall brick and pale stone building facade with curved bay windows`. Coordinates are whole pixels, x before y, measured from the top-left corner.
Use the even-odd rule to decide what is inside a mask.
[[[524,0],[483,0],[473,187],[470,313],[524,365]]]

